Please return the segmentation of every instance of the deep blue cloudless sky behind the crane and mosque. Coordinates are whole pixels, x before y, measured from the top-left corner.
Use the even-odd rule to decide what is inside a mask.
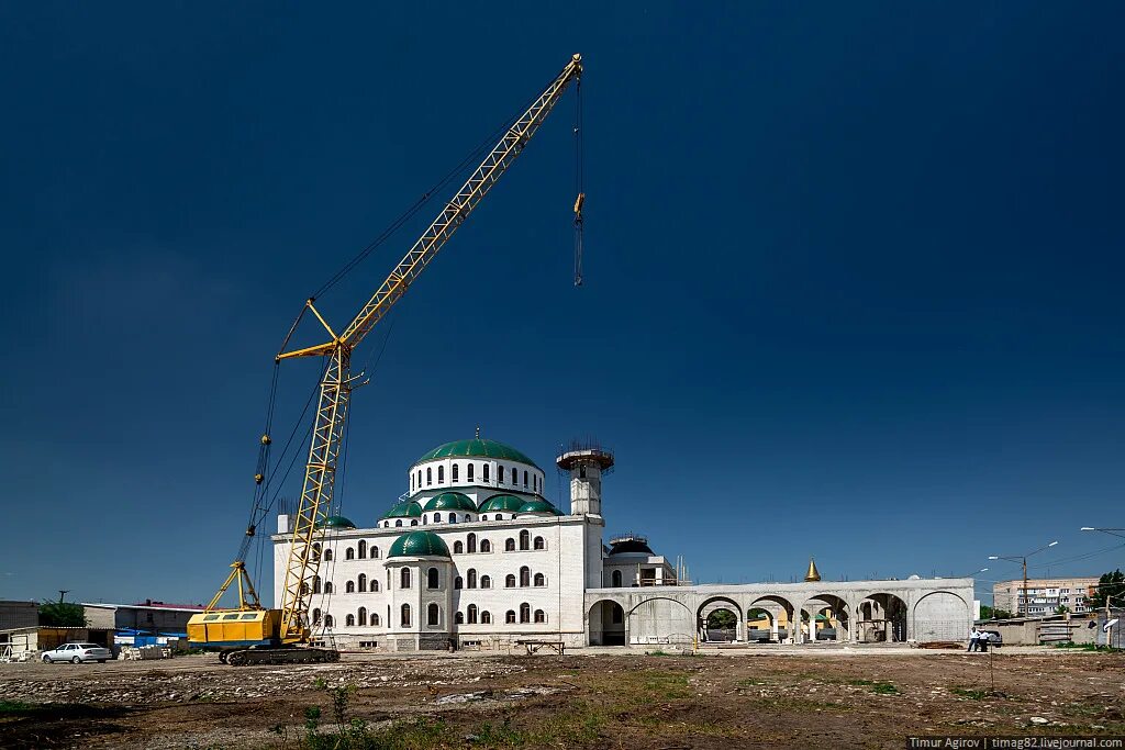
[[[0,7],[0,597],[206,600],[305,297],[574,52],[586,284],[572,93],[357,354],[346,515],[479,424],[701,580],[1122,564],[1119,3],[408,4]]]

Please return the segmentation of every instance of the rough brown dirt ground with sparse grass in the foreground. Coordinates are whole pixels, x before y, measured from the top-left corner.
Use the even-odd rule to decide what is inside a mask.
[[[925,734],[1125,734],[1125,656],[1040,650],[991,661],[991,676],[988,654],[960,651],[0,665],[0,747],[310,747],[310,707],[321,710],[320,733],[339,721],[378,738],[356,747],[418,749],[902,748]],[[346,686],[338,715],[332,688]]]

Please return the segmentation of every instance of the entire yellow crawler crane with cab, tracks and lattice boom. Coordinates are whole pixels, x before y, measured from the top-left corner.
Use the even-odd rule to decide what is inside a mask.
[[[218,651],[219,658],[232,665],[339,659],[340,654],[334,649],[308,645],[310,632],[308,609],[313,596],[313,587],[309,584],[320,568],[323,523],[332,504],[336,460],[353,385],[350,369],[352,351],[406,293],[410,286],[528,145],[531,136],[543,124],[567,87],[578,81],[580,76],[582,56],[574,55],[562,72],[507,128],[452,200],[446,204],[395,270],[340,333],[336,333],[317,311],[314,299],[306,301],[306,309],[324,326],[328,340],[315,346],[281,351],[277,360],[280,362],[296,356],[323,356],[327,362],[321,378],[316,414],[313,417],[315,424],[308,448],[304,490],[290,531],[289,558],[286,563],[280,606],[273,609],[261,606],[244,560],[235,560],[231,564],[230,576],[207,608],[200,614],[192,615],[189,621],[188,639],[192,645]],[[576,226],[580,226],[583,198],[584,196],[579,195],[575,204]],[[268,434],[262,436],[263,444],[268,445],[269,441]],[[262,478],[260,470],[255,479],[260,484]],[[253,525],[248,528],[246,534],[250,536],[254,534]],[[219,599],[232,584],[237,584],[238,606],[220,608]]]

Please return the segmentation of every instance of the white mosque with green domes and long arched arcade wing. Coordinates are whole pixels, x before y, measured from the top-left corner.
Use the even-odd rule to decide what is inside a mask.
[[[556,464],[570,476],[568,508],[544,497],[543,470],[514,448],[444,443],[410,468],[408,491],[370,526],[327,518],[315,636],[392,651],[691,643],[708,638],[717,608],[737,614],[731,638],[744,643],[956,640],[971,626],[965,578],[824,582],[810,566],[801,584],[685,585],[644,537],[606,546],[612,453],[576,444]],[[272,539],[280,600],[288,516]]]

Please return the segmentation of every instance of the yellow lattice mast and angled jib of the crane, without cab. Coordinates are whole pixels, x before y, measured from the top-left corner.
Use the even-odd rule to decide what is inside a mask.
[[[410,286],[436,256],[472,209],[522,153],[543,120],[558,103],[567,87],[582,75],[582,56],[574,55],[562,72],[536,98],[532,105],[504,133],[457,195],[414,243],[395,270],[360,309],[359,314],[336,335],[308,300],[308,307],[328,333],[330,341],[306,349],[282,352],[278,360],[295,356],[327,356],[321,381],[315,426],[308,450],[305,485],[297,517],[294,521],[289,560],[280,603],[280,640],[300,643],[308,639],[307,613],[312,586],[309,581],[320,568],[320,555],[313,553],[320,524],[332,504],[336,459],[348,415],[351,394],[350,362],[352,350],[382,319]]]

